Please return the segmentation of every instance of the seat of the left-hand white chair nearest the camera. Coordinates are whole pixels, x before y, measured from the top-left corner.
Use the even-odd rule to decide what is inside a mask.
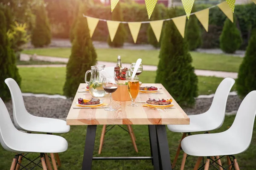
[[[16,153],[61,153],[67,150],[67,140],[61,136],[46,134],[31,134],[17,131],[9,148]]]

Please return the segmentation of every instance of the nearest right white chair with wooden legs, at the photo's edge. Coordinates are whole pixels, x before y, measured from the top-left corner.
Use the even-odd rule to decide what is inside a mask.
[[[239,170],[236,154],[248,149],[253,135],[253,124],[256,115],[256,91],[251,91],[237,111],[232,126],[221,133],[200,134],[188,136],[181,142],[184,152],[192,156],[207,156],[204,170],[208,170],[210,156],[227,156],[230,169]],[[233,161],[230,161],[230,157]],[[213,160],[212,160],[213,161]]]

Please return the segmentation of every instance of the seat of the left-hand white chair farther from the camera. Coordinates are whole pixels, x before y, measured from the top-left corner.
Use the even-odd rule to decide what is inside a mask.
[[[70,130],[67,122],[61,119],[29,115],[29,120],[19,122],[20,127],[29,132],[66,133]]]

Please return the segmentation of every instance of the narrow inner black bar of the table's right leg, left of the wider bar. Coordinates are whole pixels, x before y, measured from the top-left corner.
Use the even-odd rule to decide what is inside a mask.
[[[150,141],[151,156],[153,157],[154,170],[160,170],[158,149],[157,149],[157,131],[155,125],[148,125],[148,134]]]

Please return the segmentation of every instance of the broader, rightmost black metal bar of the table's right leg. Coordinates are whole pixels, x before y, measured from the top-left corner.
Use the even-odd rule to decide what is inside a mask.
[[[163,170],[172,170],[169,145],[166,134],[166,125],[156,125],[157,130],[157,141],[159,147],[159,158],[162,164]]]

